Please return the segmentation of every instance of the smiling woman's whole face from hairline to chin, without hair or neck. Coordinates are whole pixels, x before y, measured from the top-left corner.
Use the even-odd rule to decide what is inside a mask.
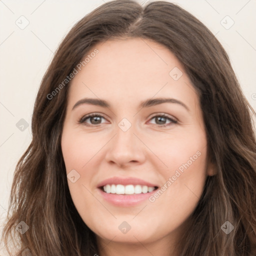
[[[177,237],[212,175],[198,96],[156,42],[95,48],[71,80],[61,137],[74,205],[105,243]]]

